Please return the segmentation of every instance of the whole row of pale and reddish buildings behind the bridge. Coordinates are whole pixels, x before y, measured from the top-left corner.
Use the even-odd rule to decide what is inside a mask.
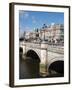
[[[45,26],[45,25],[44,25]],[[25,39],[32,40],[46,40],[48,42],[63,42],[64,41],[64,25],[52,24],[42,27],[41,29],[25,33]]]

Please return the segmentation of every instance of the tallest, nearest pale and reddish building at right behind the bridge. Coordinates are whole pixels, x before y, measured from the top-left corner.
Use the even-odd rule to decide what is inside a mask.
[[[52,41],[54,40],[64,40],[64,25],[63,24],[54,24],[48,26],[47,28],[41,29],[39,32],[39,36],[41,39]]]

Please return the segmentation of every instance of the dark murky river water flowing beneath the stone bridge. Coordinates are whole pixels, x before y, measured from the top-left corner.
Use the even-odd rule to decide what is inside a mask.
[[[40,76],[40,62],[33,59],[23,59],[20,56],[19,60],[19,78],[29,79],[29,78],[46,78],[46,77],[63,77],[64,74],[56,73],[54,70],[49,70],[49,75],[46,77]]]

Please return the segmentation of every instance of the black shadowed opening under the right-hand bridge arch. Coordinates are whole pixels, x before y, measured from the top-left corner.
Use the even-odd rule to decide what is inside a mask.
[[[64,76],[64,61],[59,60],[51,63],[48,71],[51,76]]]

